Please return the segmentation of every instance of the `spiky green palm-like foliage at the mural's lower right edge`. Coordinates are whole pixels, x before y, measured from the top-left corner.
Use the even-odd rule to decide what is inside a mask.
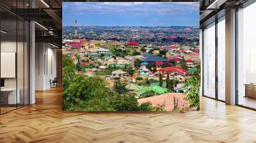
[[[189,101],[190,107],[196,107],[199,110],[199,91],[200,91],[200,65],[196,66],[196,72],[193,75],[185,80],[183,87],[186,87],[188,90],[185,92],[186,100]]]

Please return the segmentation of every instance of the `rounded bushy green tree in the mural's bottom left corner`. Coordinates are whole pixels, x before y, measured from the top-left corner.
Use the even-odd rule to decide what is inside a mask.
[[[111,111],[112,93],[97,77],[75,74],[63,90],[63,110]]]

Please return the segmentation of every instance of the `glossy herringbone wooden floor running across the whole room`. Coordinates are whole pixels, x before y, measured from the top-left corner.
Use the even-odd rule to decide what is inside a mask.
[[[198,112],[63,112],[61,90],[0,116],[0,142],[256,142],[256,112],[201,98]]]

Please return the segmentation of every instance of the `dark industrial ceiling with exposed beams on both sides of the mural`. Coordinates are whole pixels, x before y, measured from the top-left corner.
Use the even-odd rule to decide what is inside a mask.
[[[49,41],[61,45],[62,7],[61,3],[84,0],[1,0],[1,20],[35,20],[36,41]],[[99,0],[102,1],[102,0]],[[112,1],[112,0],[108,0]],[[113,0],[118,1],[118,0]],[[124,1],[124,0],[122,0]],[[132,1],[132,0],[126,0]],[[143,1],[143,0],[138,0]],[[149,0],[156,1],[156,0]],[[163,0],[170,1],[170,0]],[[200,2],[200,27],[205,21],[220,13],[239,6],[248,0],[171,0],[172,2]],[[225,12],[224,12],[225,13]]]

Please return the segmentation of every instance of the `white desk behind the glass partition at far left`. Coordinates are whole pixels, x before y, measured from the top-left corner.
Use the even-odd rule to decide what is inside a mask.
[[[17,89],[18,94],[16,97],[16,88],[3,88],[1,89],[1,102],[4,104],[17,104],[20,103],[20,89]]]

